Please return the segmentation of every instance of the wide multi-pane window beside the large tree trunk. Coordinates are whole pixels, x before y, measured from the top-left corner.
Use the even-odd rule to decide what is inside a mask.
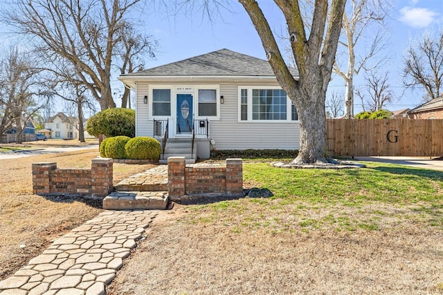
[[[281,88],[239,88],[240,122],[296,120],[297,110]]]

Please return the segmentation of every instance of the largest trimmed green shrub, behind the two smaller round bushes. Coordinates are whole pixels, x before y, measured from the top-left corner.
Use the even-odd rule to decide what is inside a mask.
[[[125,135],[134,137],[136,134],[136,112],[130,108],[108,108],[89,118],[86,131],[98,136],[107,137]]]

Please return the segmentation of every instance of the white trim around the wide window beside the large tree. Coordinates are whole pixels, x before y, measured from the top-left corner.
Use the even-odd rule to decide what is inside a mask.
[[[248,105],[248,120],[242,120],[242,89],[248,90],[247,105]],[[286,120],[253,120],[252,119],[252,90],[253,89],[279,89],[279,86],[238,86],[237,89],[237,121],[239,123],[283,123],[283,122],[298,122],[298,120],[292,120],[292,102],[286,95]]]

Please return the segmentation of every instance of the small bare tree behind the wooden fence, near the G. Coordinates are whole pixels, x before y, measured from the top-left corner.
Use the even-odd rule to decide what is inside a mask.
[[[360,97],[363,106],[364,104],[369,106],[369,111],[380,111],[395,99],[388,83],[388,71],[380,75],[377,71],[371,71],[365,76],[365,81],[365,88],[357,89],[356,95]]]

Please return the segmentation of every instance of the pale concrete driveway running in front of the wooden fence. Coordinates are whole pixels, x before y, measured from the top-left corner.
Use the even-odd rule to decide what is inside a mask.
[[[401,164],[415,168],[433,169],[443,171],[443,160],[433,160],[429,157],[355,157],[355,160],[367,162],[382,162],[391,164]]]

